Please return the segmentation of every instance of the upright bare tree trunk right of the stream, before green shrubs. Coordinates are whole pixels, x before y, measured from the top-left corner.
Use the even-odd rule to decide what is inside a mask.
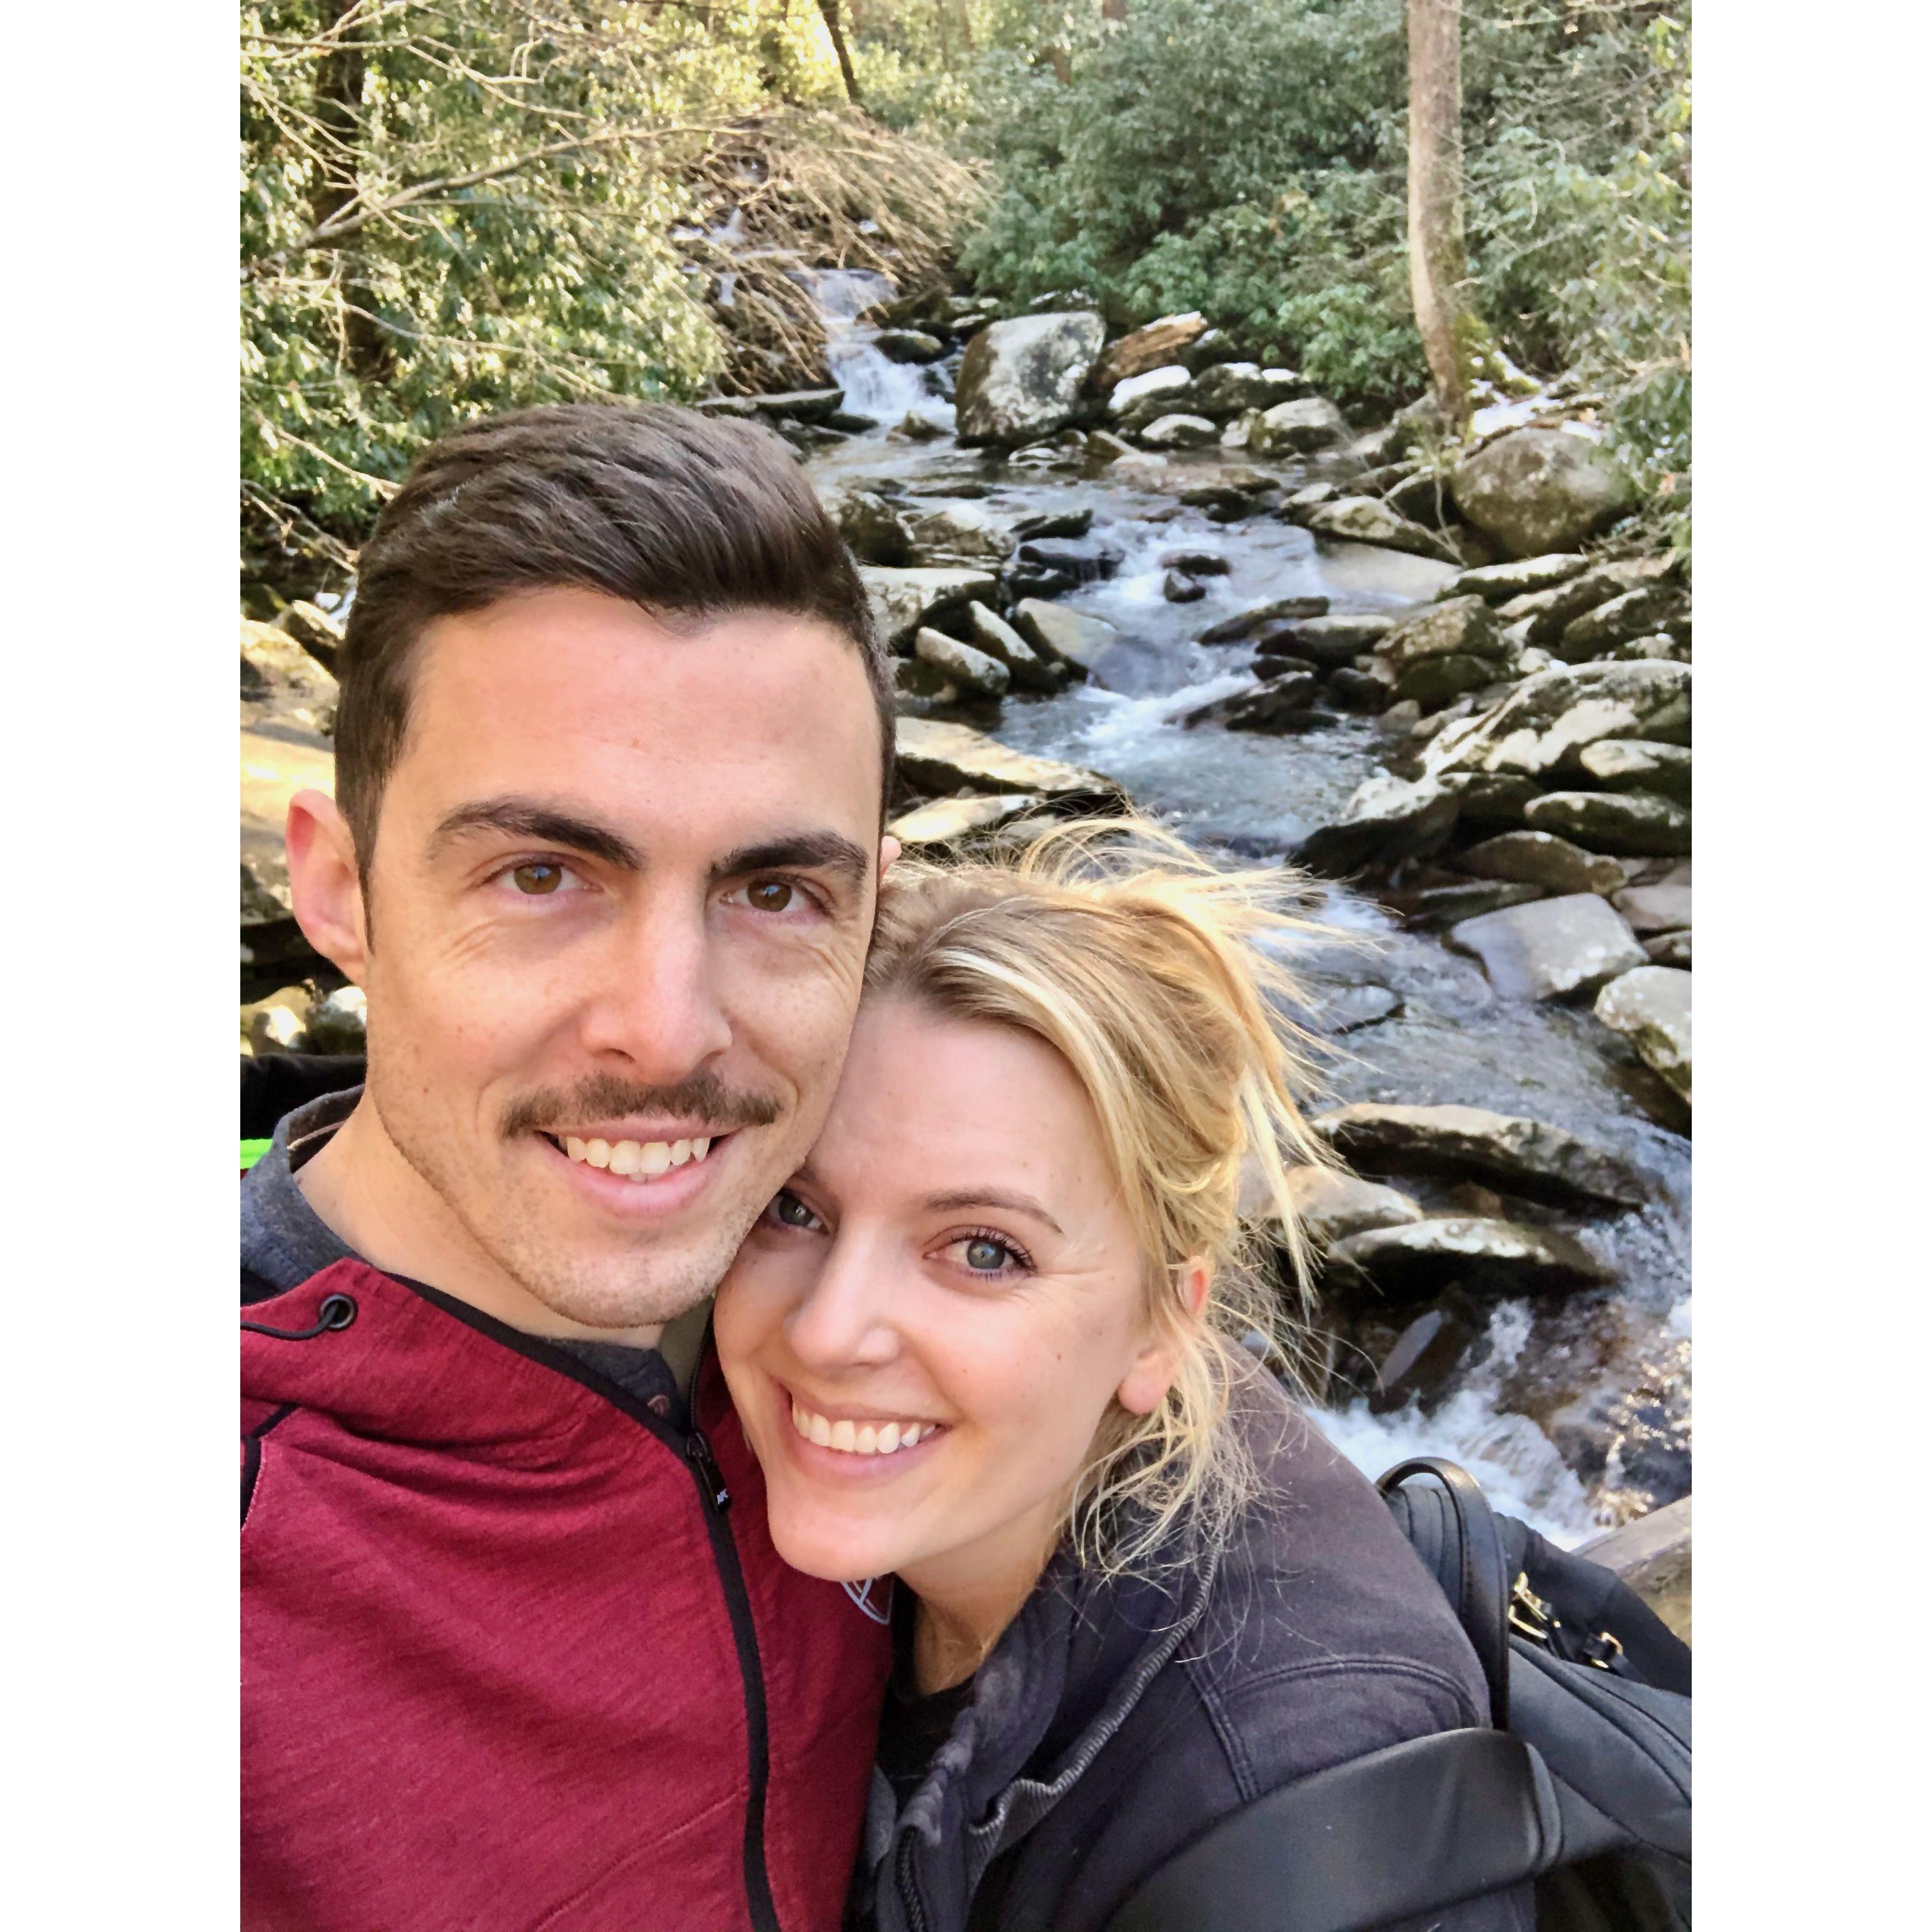
[[[1408,290],[1435,402],[1468,421],[1463,338],[1463,4],[1408,0]]]

